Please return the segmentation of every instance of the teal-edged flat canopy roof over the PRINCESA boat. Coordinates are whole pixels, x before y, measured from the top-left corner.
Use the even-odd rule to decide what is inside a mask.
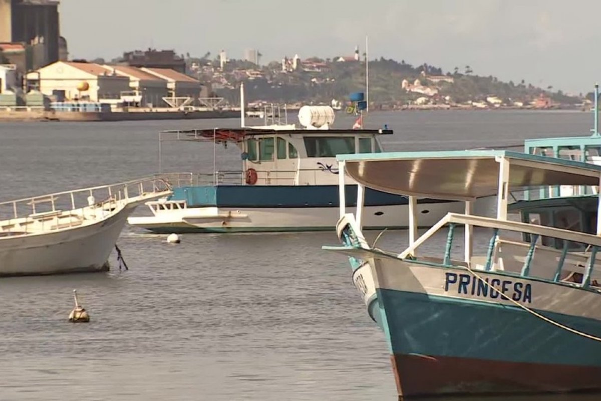
[[[499,164],[508,162],[508,191],[549,185],[599,185],[601,166],[507,150],[338,155],[346,173],[369,188],[447,200],[496,195]]]

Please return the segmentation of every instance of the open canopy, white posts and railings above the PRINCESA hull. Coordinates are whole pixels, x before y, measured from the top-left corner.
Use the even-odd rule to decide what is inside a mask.
[[[598,185],[601,166],[507,151],[340,155],[338,162],[340,170],[346,172],[340,175],[340,221],[337,225],[344,247],[325,248],[355,258],[355,262],[351,261],[355,263],[353,268],[361,266],[362,261],[381,257],[441,268],[465,266],[477,271],[505,272],[514,277],[537,277],[554,283],[573,283],[575,281],[570,280],[578,276],[576,283],[585,288],[593,284],[597,287],[597,282],[601,282],[601,253],[597,253],[601,248],[600,220],[590,222],[593,233],[588,234],[508,218],[510,191],[551,185]],[[348,177],[359,187],[354,216],[347,213],[344,206],[346,191],[343,188]],[[400,254],[369,246],[362,235],[365,187],[409,196],[409,246]],[[490,196],[496,196],[495,218],[475,215],[474,202]],[[465,201],[465,214],[448,213],[418,236],[416,197]],[[596,207],[601,207],[599,196],[595,199]],[[446,236],[439,233],[445,227],[448,230]],[[460,248],[456,237],[461,228],[463,258],[453,255]],[[478,230],[477,235],[474,230]],[[482,241],[487,234],[489,240]],[[421,246],[424,243],[429,245]],[[475,245],[486,250],[474,253]],[[432,253],[437,251],[441,254],[433,256]]]

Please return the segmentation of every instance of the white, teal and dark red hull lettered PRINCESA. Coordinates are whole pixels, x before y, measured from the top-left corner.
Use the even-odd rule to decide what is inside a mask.
[[[479,274],[525,307],[601,337],[596,291]],[[353,281],[385,332],[400,396],[601,391],[601,342],[517,307],[465,269],[376,259]]]

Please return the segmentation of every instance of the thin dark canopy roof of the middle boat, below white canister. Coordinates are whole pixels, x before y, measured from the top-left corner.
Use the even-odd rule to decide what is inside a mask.
[[[259,135],[391,135],[389,129],[274,129],[274,128],[209,128],[161,131],[161,141],[242,142]]]

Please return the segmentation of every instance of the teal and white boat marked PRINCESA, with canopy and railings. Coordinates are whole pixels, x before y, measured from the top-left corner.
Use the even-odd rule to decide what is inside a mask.
[[[349,256],[353,283],[385,334],[400,396],[601,390],[599,218],[589,234],[507,215],[510,191],[599,185],[601,166],[507,151],[338,160],[357,182],[359,206],[367,187],[410,198],[409,245],[400,253],[368,245],[359,206],[355,215],[340,208],[343,246],[324,246]],[[473,215],[474,200],[490,195],[496,218]],[[464,201],[465,213],[448,213],[418,237],[422,196]],[[561,248],[543,245],[545,238]],[[428,254],[426,244],[440,253]]]

